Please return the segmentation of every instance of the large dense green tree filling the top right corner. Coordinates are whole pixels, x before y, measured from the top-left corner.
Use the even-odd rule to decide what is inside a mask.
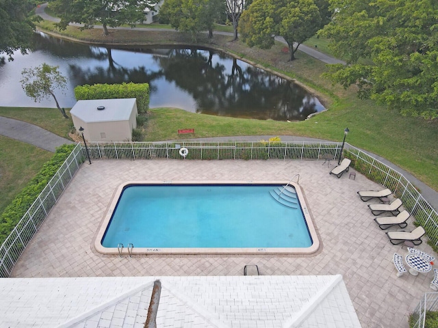
[[[347,65],[327,74],[403,115],[438,118],[438,2],[333,0],[321,32]],[[361,61],[359,61],[361,59]],[[364,61],[363,59],[368,59]]]

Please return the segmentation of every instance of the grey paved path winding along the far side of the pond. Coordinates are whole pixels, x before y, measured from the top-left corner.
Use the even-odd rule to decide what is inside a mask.
[[[49,14],[44,12],[46,7],[47,7],[47,3],[43,3],[42,5],[38,6],[38,8],[36,8],[35,13],[37,15],[39,15],[44,20],[50,20],[52,22],[59,23],[60,18],[50,16]],[[72,23],[70,25],[80,26],[81,24]],[[102,26],[101,25],[94,25],[94,28],[101,29]],[[131,27],[108,27],[108,29],[132,29],[132,28]],[[177,31],[175,29],[155,29],[155,28],[150,28],[150,27],[134,27],[133,29],[135,29],[137,31],[167,31],[167,32],[168,31],[175,31],[175,32]],[[220,31],[214,31],[214,34],[220,34],[222,36],[233,36],[233,33],[220,32]],[[277,36],[275,38],[275,40],[279,41],[283,44],[287,44],[287,42],[285,42],[285,40],[281,36]],[[296,46],[296,45],[297,44],[294,44],[294,46]],[[326,55],[325,53],[321,53],[320,51],[313,49],[310,46],[305,46],[304,44],[300,44],[298,51],[301,51],[301,52],[306,53],[307,55],[309,55],[311,57],[319,59],[320,61],[323,61],[326,64],[346,64],[345,61],[336,59],[334,57]]]

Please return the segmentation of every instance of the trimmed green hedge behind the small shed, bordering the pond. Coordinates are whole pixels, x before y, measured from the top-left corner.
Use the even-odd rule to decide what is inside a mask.
[[[75,97],[77,100],[137,98],[138,112],[146,113],[149,109],[149,84],[124,82],[78,85],[75,87]]]

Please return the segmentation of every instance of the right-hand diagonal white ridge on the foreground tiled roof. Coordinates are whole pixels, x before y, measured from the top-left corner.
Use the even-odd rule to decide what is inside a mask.
[[[324,301],[324,299],[326,299],[326,297],[331,294],[333,289],[335,289],[342,281],[342,275],[333,275],[331,282],[329,282],[325,288],[322,288],[319,292],[317,292],[315,296],[311,297],[307,304],[300,309],[300,311],[296,312],[296,314],[293,314],[291,318],[286,320],[283,324],[283,327],[300,327],[302,322],[313,313],[315,308],[317,308],[318,305],[320,305],[320,303]]]

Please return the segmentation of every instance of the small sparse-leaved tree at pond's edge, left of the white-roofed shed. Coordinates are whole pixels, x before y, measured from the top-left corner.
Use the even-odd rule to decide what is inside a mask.
[[[58,70],[59,66],[50,66],[46,63],[36,68],[25,68],[21,75],[21,85],[25,90],[26,96],[34,98],[35,102],[53,96],[56,107],[60,110],[64,118],[68,118],[64,108],[60,107],[53,90],[65,89],[67,85],[66,78]]]

